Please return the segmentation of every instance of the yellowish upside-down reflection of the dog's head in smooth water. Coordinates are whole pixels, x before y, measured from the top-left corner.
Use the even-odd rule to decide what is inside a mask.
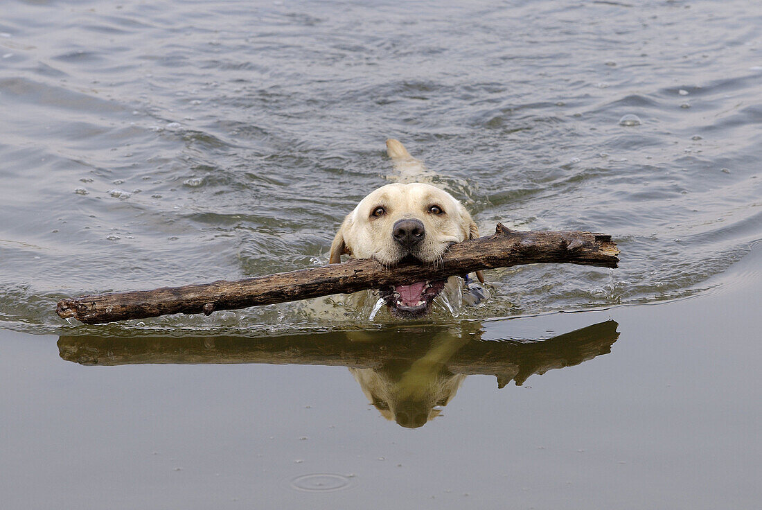
[[[465,338],[464,338],[465,337]],[[350,368],[370,404],[402,427],[426,425],[453,399],[466,379],[447,370],[446,362],[469,342],[468,335],[444,334],[412,363],[386,361],[379,368]]]

